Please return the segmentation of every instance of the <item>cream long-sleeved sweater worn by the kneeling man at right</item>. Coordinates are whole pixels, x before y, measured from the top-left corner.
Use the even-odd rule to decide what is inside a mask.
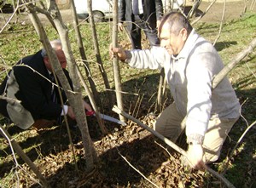
[[[153,47],[131,50],[131,59],[126,61],[139,69],[165,68],[177,111],[187,117],[187,136],[204,136],[211,117],[233,119],[240,116],[240,105],[227,77],[212,89],[212,79],[224,65],[212,44],[195,30],[176,57],[169,55],[165,48]]]

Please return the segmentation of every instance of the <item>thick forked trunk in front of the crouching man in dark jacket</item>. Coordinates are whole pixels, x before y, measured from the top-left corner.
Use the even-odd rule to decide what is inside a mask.
[[[49,3],[49,13],[52,16],[52,20],[55,22],[56,29],[59,33],[59,36],[61,38],[62,47],[64,49],[64,53],[67,57],[67,64],[69,67],[69,70],[71,72],[71,78],[73,80],[73,86],[74,86],[74,92],[70,88],[67,77],[65,76],[64,72],[62,71],[61,65],[59,63],[59,60],[57,59],[55,52],[50,46],[49,39],[46,35],[46,32],[44,31],[44,28],[42,26],[42,23],[38,19],[37,14],[35,13],[35,6],[32,4],[28,4],[28,8],[32,12],[32,23],[35,27],[38,28],[38,35],[40,37],[40,40],[44,44],[44,48],[49,55],[49,61],[51,62],[51,66],[55,70],[55,74],[59,78],[61,82],[61,86],[64,88],[65,93],[67,94],[67,99],[70,103],[70,105],[73,108],[73,111],[75,113],[76,121],[78,122],[79,129],[82,134],[82,140],[84,144],[84,155],[86,160],[86,171],[90,172],[94,168],[94,164],[97,161],[96,158],[96,151],[92,145],[92,142],[90,140],[90,134],[87,126],[87,120],[84,112],[84,101],[80,90],[80,83],[79,83],[79,77],[77,74],[73,54],[70,48],[70,42],[69,38],[67,36],[67,28],[64,26],[62,20],[61,20],[61,14],[59,9],[57,8],[57,5],[55,3],[55,0],[50,0]]]

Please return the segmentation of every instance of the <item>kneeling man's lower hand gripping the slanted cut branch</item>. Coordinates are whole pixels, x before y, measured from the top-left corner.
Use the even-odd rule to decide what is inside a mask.
[[[189,150],[187,151],[187,158],[189,160],[189,165],[192,168],[203,170],[206,168],[206,164],[203,162],[203,148],[202,145],[194,144],[189,145]]]

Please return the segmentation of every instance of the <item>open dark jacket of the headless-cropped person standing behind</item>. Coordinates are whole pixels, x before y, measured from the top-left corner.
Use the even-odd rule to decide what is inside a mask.
[[[127,21],[127,29],[131,31],[134,22],[132,14],[132,0],[120,0],[119,2],[119,22]],[[141,0],[143,3],[143,20],[148,23],[148,28],[156,28],[156,21],[163,15],[162,0]]]

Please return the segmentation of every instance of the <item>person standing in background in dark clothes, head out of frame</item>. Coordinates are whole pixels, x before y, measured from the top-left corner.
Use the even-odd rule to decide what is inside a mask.
[[[123,24],[126,22],[131,36],[131,46],[134,49],[142,48],[142,30],[150,46],[158,46],[160,41],[157,37],[157,25],[162,15],[162,0],[120,0],[119,31],[123,31]]]

